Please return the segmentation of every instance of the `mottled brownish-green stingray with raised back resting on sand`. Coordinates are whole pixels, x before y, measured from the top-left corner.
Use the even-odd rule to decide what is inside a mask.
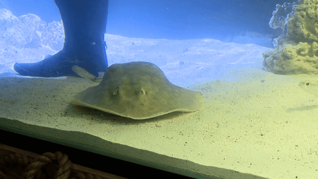
[[[97,86],[79,92],[74,105],[91,107],[135,120],[202,107],[202,94],[173,85],[148,62],[110,65]]]

